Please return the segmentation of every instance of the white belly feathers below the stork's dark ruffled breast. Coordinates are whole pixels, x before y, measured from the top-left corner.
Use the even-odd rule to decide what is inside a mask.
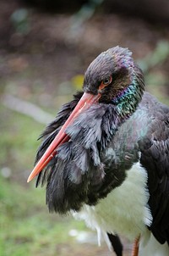
[[[146,189],[147,175],[139,163],[127,172],[121,186],[110,192],[95,206],[85,205],[75,218],[85,220],[98,232],[117,232],[133,240],[150,225],[152,216],[147,206],[149,193]]]

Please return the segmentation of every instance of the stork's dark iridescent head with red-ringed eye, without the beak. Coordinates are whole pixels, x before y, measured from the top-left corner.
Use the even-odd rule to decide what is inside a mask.
[[[130,96],[140,100],[144,91],[144,77],[123,47],[113,47],[101,53],[85,72],[84,91],[100,95],[100,103],[117,104]],[[130,97],[130,100],[133,101]]]

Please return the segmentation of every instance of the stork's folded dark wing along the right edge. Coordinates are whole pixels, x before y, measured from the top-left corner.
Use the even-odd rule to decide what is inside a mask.
[[[146,104],[153,121],[141,145],[140,162],[148,172],[150,230],[159,242],[169,243],[169,108],[157,102],[150,107],[148,102],[150,96]]]

